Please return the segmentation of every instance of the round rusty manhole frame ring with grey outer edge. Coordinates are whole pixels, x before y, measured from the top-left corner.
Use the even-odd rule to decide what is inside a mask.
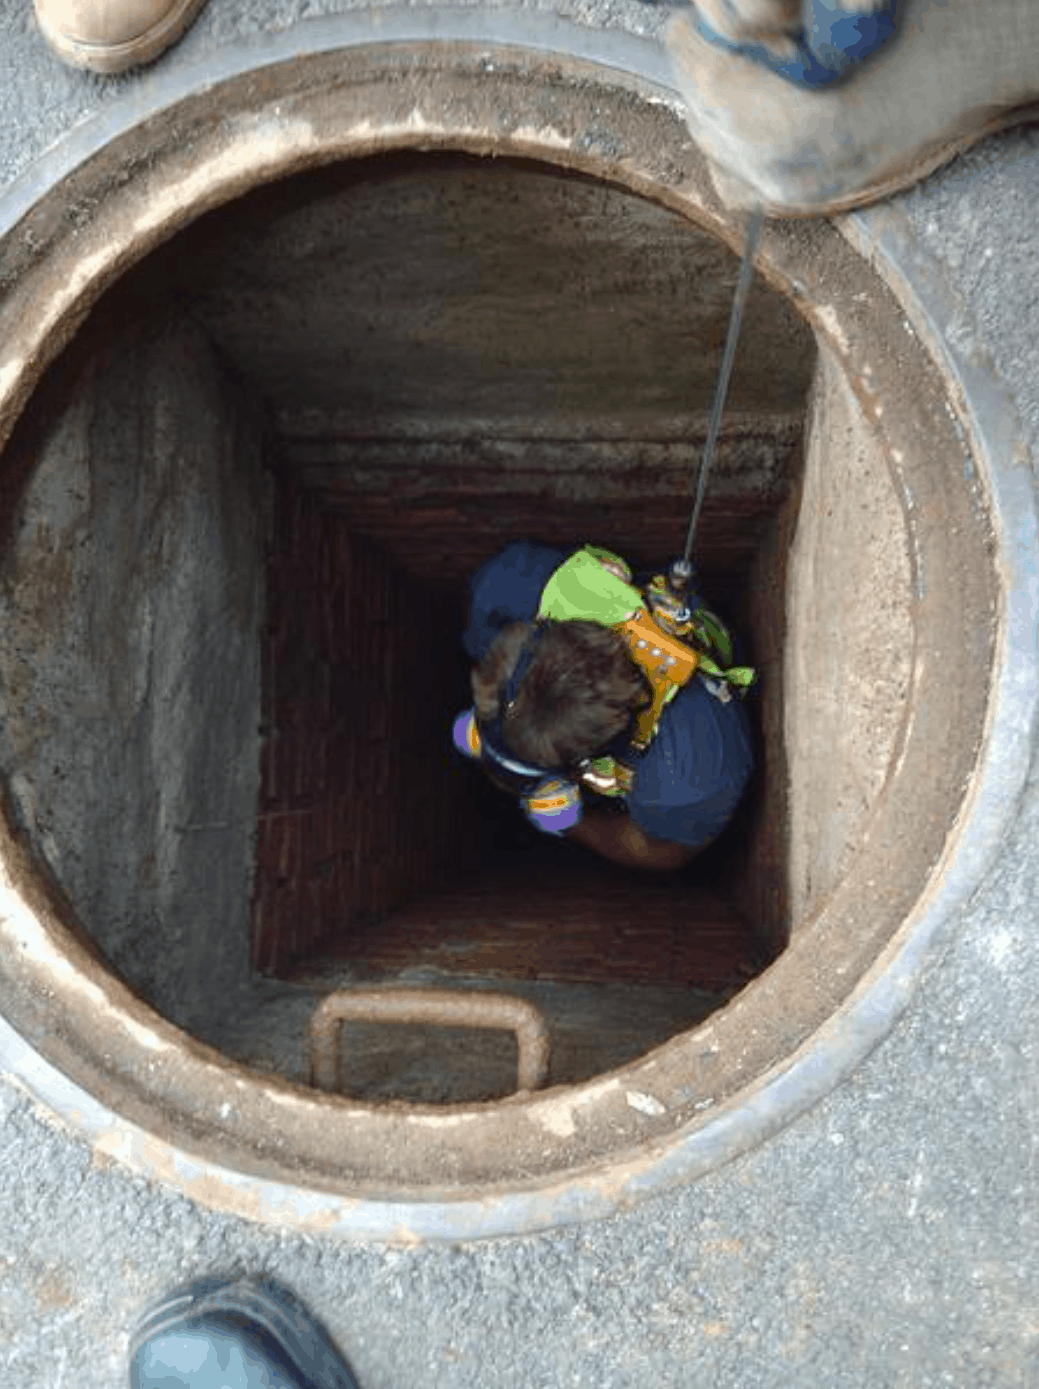
[[[740,226],[726,219],[679,110],[653,44],[538,14],[342,15],[171,67],[0,199],[0,447],[49,364],[132,264],[203,211],[306,167],[393,149],[514,154],[647,196],[735,244]],[[839,1083],[901,1014],[997,853],[1036,722],[1033,653],[1028,667],[1008,639],[1026,601],[1013,535],[1029,525],[1035,535],[1036,514],[1003,428],[1013,407],[992,374],[951,356],[940,294],[914,299],[908,239],[889,225],[886,244],[871,250],[870,225],[868,213],[842,231],[772,224],[760,271],[825,340],[889,453],[922,468],[914,486],[926,472],[926,429],[938,431],[926,444],[938,481],[950,450],[967,456],[975,481],[956,504],[989,583],[992,642],[982,661],[957,653],[949,615],[928,614],[933,592],[918,594],[915,728],[867,847],[776,964],[700,1028],[593,1082],[492,1106],[364,1106],[260,1076],[160,1018],[104,968],[3,822],[7,1076],[99,1156],[204,1204],[385,1239],[476,1238],[608,1214],[763,1142]],[[908,333],[907,314],[917,325]],[[904,399],[906,381],[878,371],[876,332],[892,353],[897,343],[913,356],[915,399]],[[913,522],[928,563],[940,519],[933,482]],[[933,589],[933,572],[931,581]],[[949,706],[926,703],[928,640],[961,656],[975,678],[957,706],[967,754],[949,747]],[[878,889],[885,842],[899,845],[913,822],[899,778],[921,747],[928,758],[950,751],[936,810],[945,821],[932,826],[926,863]]]

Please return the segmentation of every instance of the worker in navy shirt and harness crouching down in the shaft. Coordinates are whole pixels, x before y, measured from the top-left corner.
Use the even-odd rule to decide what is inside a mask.
[[[724,625],[620,556],[518,540],[469,581],[474,707],[454,743],[540,831],[614,863],[681,868],[722,832],[754,767]]]

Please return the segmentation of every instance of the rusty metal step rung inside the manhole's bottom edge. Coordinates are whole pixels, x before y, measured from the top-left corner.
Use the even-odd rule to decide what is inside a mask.
[[[343,1022],[426,1024],[439,1028],[496,1028],[515,1032],[518,1086],[536,1090],[549,1074],[549,1028],[526,999],[507,993],[450,993],[442,989],[339,989],[314,1010],[310,1024],[311,1081],[339,1090],[339,1029]]]

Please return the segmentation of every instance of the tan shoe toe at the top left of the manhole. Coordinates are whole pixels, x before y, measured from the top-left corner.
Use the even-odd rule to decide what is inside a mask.
[[[206,0],[33,0],[43,38],[63,63],[122,72],[175,43]]]

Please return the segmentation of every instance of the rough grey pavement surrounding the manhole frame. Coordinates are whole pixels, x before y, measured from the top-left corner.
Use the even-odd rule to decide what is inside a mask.
[[[164,61],[319,8],[211,0]],[[604,26],[656,21],[635,6],[578,14]],[[33,35],[28,0],[4,7],[0,67],[6,176],[149,81],[67,74]],[[1039,132],[1011,132],[890,211],[857,217],[867,242],[903,218],[945,279],[949,342],[986,358],[1026,425],[1029,489],[1038,188]],[[1035,572],[1035,535],[1014,539]],[[1025,664],[1033,624],[1032,608],[1011,631]],[[92,1160],[0,1082],[6,1385],[117,1389],[143,1300],[194,1272],[267,1270],[326,1320],[364,1389],[1029,1389],[1039,1383],[1038,836],[1033,767],[997,861],[885,1043],[768,1143],[595,1225],[414,1249],[282,1233]]]

